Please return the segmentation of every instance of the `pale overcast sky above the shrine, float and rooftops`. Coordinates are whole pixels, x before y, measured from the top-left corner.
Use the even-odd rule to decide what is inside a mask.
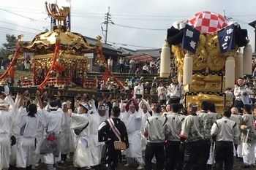
[[[113,47],[161,48],[167,28],[176,20],[187,20],[196,12],[208,10],[225,14],[247,29],[255,51],[255,28],[248,25],[256,20],[255,0],[58,0],[57,3],[59,7],[71,5],[72,32],[92,38],[100,35],[103,40],[103,22],[110,7],[113,24],[108,26],[107,40]],[[1,1],[0,16],[0,47],[6,42],[6,34],[23,34],[23,40],[30,41],[45,28],[50,29],[45,0]]]

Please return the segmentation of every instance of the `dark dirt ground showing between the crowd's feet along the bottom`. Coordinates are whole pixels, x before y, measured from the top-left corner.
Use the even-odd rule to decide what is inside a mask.
[[[135,164],[135,163],[132,164],[129,167],[124,167],[124,164],[125,164],[124,161],[119,163],[118,164],[118,170],[135,170],[138,167],[138,165]],[[233,170],[242,170],[242,169],[244,169],[243,166],[244,166],[243,165],[243,161],[241,161],[239,159],[236,159],[236,161],[234,163]],[[38,169],[45,169],[45,166],[40,164]],[[61,169],[61,170],[76,170],[75,167],[72,166],[72,160],[66,161],[63,164],[59,164],[59,167],[57,169]],[[249,169],[256,170],[256,166],[255,167],[251,167]],[[211,170],[211,169],[208,169],[208,170]]]

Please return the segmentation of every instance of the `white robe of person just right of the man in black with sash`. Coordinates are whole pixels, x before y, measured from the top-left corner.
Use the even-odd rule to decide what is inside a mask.
[[[122,120],[127,126],[127,133],[129,139],[129,147],[125,150],[127,157],[129,158],[140,158],[142,157],[142,148],[141,148],[141,117],[142,112],[135,111],[134,113],[130,112],[124,113]]]

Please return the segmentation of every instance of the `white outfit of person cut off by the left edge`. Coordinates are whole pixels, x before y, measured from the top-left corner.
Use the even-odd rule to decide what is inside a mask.
[[[11,155],[10,134],[13,110],[0,110],[0,169],[8,169]]]

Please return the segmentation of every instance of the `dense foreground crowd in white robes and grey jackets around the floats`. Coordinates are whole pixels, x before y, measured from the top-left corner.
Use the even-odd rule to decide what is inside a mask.
[[[234,89],[232,108],[217,113],[213,101],[184,108],[184,87],[176,75],[170,85],[143,77],[125,100],[112,96],[75,96],[50,99],[39,90],[0,93],[0,169],[57,169],[72,159],[77,169],[115,170],[136,163],[137,169],[233,169],[241,159],[244,169],[255,166],[255,115],[252,90],[244,78]],[[127,82],[128,83],[128,82]],[[110,82],[110,85],[113,84]],[[157,93],[150,100],[147,86]],[[129,87],[130,88],[130,87]],[[124,142],[124,150],[116,149]],[[234,159],[236,158],[237,159]]]

